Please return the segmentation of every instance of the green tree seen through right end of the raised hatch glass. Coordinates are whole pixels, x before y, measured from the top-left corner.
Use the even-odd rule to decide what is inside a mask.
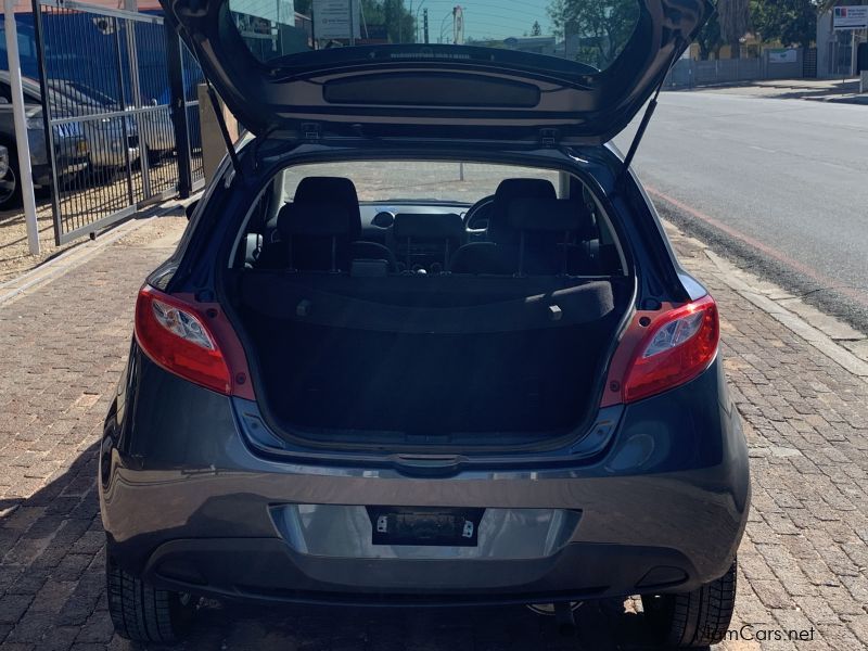
[[[575,39],[575,59],[599,69],[621,54],[639,20],[636,0],[553,0],[548,12],[554,34]]]

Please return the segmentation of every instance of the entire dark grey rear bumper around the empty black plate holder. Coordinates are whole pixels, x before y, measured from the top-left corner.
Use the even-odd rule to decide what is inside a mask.
[[[165,373],[133,346],[100,464],[103,524],[122,566],[166,588],[277,601],[690,590],[729,567],[750,500],[719,362],[624,409],[595,458],[419,477],[254,451],[228,398]],[[477,547],[374,546],[368,506],[474,507],[486,516]]]

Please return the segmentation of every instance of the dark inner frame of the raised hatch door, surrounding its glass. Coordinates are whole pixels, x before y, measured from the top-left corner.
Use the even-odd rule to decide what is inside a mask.
[[[256,135],[323,131],[601,143],[630,122],[713,9],[706,0],[640,0],[638,22],[603,71],[508,49],[394,44],[257,61],[228,0],[162,0],[227,106]]]

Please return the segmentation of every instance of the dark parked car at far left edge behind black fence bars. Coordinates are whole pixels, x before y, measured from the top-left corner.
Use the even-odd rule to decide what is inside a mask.
[[[29,90],[33,90],[31,82],[30,80],[27,84]],[[38,97],[37,94],[36,98]],[[47,189],[51,187],[51,161],[46,143],[42,107],[28,90],[25,90],[24,101],[34,184],[37,189]],[[21,171],[12,112],[12,91],[9,87],[9,73],[3,71],[0,71],[0,142],[9,150],[9,170],[3,177],[5,186],[0,196],[0,209],[10,209],[21,205]],[[88,156],[88,141],[80,125],[76,123],[58,125],[54,131],[54,159],[59,180],[64,182],[86,169]]]

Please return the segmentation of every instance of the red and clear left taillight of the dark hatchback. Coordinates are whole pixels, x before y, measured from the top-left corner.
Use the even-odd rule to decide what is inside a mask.
[[[229,365],[214,334],[190,305],[145,285],[136,303],[136,340],[167,371],[229,395]]]

